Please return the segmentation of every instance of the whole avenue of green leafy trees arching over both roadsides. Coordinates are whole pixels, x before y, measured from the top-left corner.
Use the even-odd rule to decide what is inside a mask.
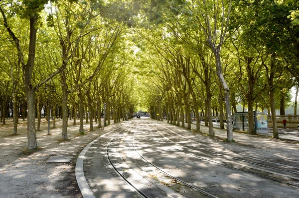
[[[292,87],[297,115],[298,9],[297,0],[0,0],[0,122],[13,117],[16,134],[26,118],[33,149],[49,106],[67,139],[68,119],[80,118],[81,133],[84,118],[101,128],[106,103],[105,125],[144,109],[187,129],[191,115],[204,117],[214,135],[219,116],[232,141],[241,105],[250,134],[253,112],[267,109],[279,138],[276,110],[285,115]]]

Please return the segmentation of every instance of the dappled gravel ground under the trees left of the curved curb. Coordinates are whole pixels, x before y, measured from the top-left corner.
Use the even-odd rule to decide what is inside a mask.
[[[73,120],[69,120],[69,140],[61,141],[62,120],[56,120],[51,135],[47,135],[46,120],[42,120],[41,131],[37,132],[40,149],[28,153],[26,121],[19,121],[18,135],[12,135],[12,122],[8,119],[5,125],[0,125],[0,198],[81,198],[75,176],[77,156],[104,131],[89,132],[89,124],[85,124],[86,135],[77,135],[79,125],[73,126]],[[109,127],[105,132],[106,129]],[[51,156],[72,159],[70,163],[46,163]]]

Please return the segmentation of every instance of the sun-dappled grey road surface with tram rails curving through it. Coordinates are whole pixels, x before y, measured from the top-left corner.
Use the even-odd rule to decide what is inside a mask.
[[[91,145],[84,174],[99,198],[298,198],[298,145],[247,134],[238,142],[134,119]]]

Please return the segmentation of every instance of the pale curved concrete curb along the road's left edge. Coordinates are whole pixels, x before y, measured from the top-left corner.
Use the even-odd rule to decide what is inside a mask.
[[[121,127],[118,127],[114,130],[111,130],[110,132],[106,132],[104,134],[102,134],[101,136],[99,136],[98,138],[96,138],[95,140],[91,141],[87,146],[85,146],[85,148],[81,151],[81,153],[79,154],[78,158],[77,158],[77,162],[76,162],[76,169],[75,169],[75,174],[76,174],[76,180],[77,180],[77,184],[79,186],[79,189],[81,191],[81,194],[83,196],[83,198],[96,198],[93,194],[93,192],[91,191],[87,180],[85,178],[84,175],[84,170],[83,170],[83,160],[84,160],[84,156],[87,152],[87,150],[96,142],[98,141],[101,137],[103,137],[104,135],[107,135],[111,132],[114,132],[115,130],[120,129]]]

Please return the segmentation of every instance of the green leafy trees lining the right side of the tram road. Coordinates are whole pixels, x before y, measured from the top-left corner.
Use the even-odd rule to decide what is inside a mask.
[[[226,117],[231,141],[231,110],[241,104],[243,111],[248,108],[250,134],[255,133],[253,111],[260,108],[268,110],[278,138],[276,109],[285,115],[294,86],[297,115],[298,2],[173,0],[159,6],[159,25],[140,33],[147,43],[140,53],[147,60],[147,82],[155,85],[147,86],[153,117],[159,120],[155,115],[164,112],[168,122],[190,129],[190,112],[197,120],[204,112],[213,135],[213,109],[221,129]]]

